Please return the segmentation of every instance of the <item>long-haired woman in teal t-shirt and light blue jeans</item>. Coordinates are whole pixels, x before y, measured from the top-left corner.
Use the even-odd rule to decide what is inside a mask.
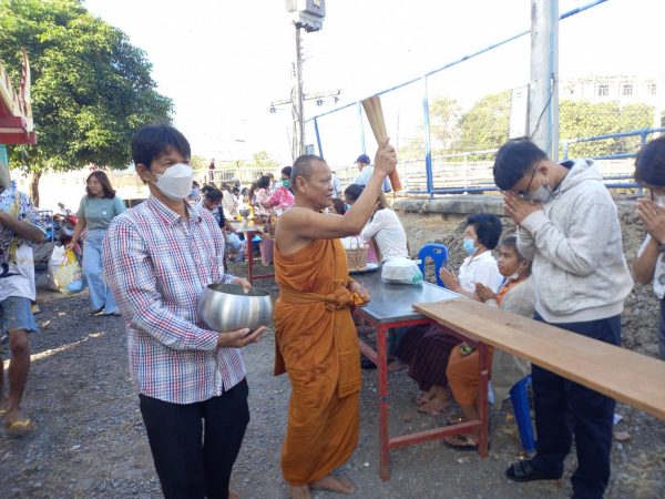
[[[83,231],[83,276],[90,289],[92,315],[119,316],[117,304],[109,288],[102,268],[102,242],[111,221],[125,211],[104,172],[92,172],[85,181],[88,192],[79,204],[78,221],[72,241],[65,246],[72,249]]]

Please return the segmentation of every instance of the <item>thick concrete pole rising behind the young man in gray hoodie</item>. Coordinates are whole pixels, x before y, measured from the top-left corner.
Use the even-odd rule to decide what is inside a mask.
[[[559,159],[559,0],[531,0],[529,136]]]

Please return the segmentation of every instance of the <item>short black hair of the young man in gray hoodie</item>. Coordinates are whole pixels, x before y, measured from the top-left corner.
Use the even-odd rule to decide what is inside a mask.
[[[501,191],[510,191],[539,161],[548,154],[533,142],[520,139],[507,142],[497,152],[494,183]]]

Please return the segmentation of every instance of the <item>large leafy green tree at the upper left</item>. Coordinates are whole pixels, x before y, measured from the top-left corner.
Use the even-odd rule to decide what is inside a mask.
[[[155,91],[145,53],[79,0],[0,0],[0,59],[14,81],[21,48],[32,70],[38,143],[13,146],[11,157],[32,174],[35,204],[43,172],[124,169],[134,132],[171,121],[172,101]]]

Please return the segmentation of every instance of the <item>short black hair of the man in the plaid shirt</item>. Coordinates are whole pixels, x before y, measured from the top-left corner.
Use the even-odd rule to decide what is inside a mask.
[[[155,157],[175,149],[186,159],[192,156],[190,142],[175,128],[167,124],[151,124],[136,132],[132,140],[132,160],[134,165],[139,163],[150,170]]]

